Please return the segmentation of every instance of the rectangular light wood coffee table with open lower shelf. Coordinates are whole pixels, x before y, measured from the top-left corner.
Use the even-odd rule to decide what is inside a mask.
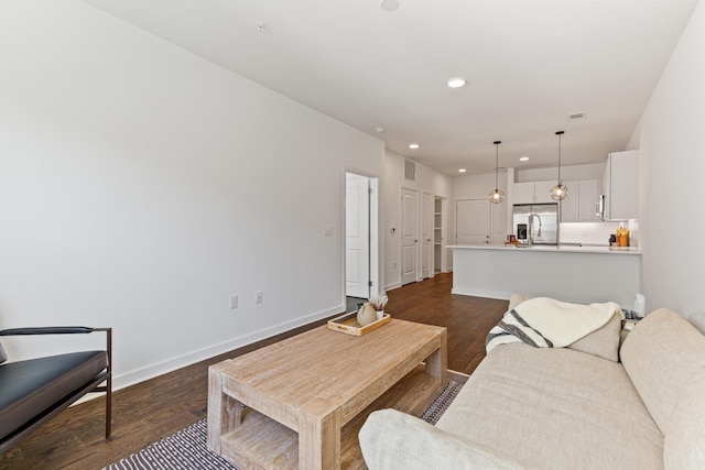
[[[361,337],[323,326],[212,365],[208,448],[242,469],[364,468],[367,414],[425,409],[447,381],[446,337],[399,319]]]

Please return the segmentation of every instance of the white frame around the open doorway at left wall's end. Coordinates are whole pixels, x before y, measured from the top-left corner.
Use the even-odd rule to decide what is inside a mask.
[[[360,171],[357,168],[344,168],[343,172],[343,233],[341,233],[341,256],[343,256],[343,306],[345,308],[346,297],[347,297],[347,283],[346,283],[346,273],[347,273],[347,174],[352,174],[356,176],[361,176],[368,179],[369,182],[369,270],[370,270],[370,295],[373,293],[382,292],[380,291],[380,275],[379,275],[379,256],[380,256],[380,241],[379,241],[379,177],[377,175],[370,174],[369,172]]]

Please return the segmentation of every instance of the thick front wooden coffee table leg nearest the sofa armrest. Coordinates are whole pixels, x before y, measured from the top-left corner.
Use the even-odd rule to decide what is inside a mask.
[[[300,412],[299,468],[340,468],[340,409],[327,400],[315,398]]]

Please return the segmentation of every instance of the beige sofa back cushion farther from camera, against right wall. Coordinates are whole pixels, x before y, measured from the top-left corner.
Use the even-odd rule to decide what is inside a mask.
[[[705,368],[705,337],[662,308],[637,323],[620,356],[641,400],[665,433],[679,395]]]

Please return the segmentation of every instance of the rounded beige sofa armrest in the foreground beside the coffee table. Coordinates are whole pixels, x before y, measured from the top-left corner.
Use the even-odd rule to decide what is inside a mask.
[[[398,412],[372,413],[359,434],[370,470],[524,469],[516,460]]]

